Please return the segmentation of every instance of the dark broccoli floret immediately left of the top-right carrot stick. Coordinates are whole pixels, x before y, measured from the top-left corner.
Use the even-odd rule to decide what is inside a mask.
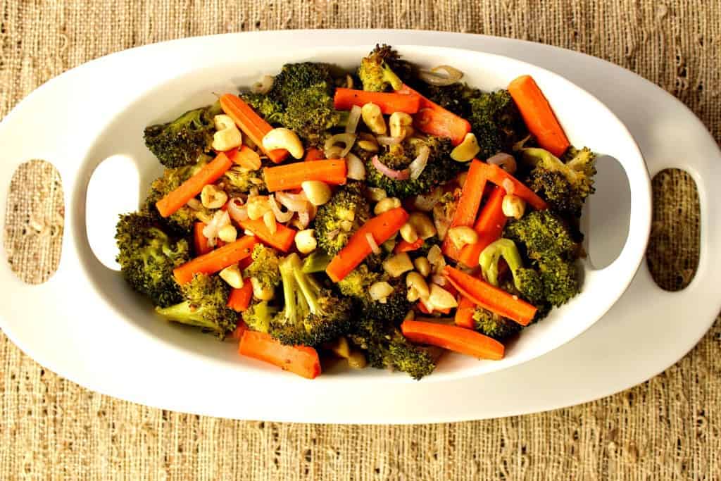
[[[513,144],[526,135],[526,124],[508,90],[497,90],[467,100],[471,131],[481,150],[479,159],[488,159],[498,152],[510,152]]]

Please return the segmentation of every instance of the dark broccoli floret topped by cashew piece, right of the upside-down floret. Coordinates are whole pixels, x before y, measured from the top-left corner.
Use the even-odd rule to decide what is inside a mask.
[[[371,298],[369,288],[373,283],[381,281],[388,282],[393,292],[384,301],[376,301]],[[384,322],[398,324],[411,308],[407,288],[400,278],[389,278],[386,274],[373,272],[366,264],[353,269],[337,286],[341,294],[355,300],[361,314],[369,319],[383,319]]]

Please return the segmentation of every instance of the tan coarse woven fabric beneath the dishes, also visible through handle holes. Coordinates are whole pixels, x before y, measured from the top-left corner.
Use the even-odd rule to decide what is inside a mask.
[[[689,105],[721,138],[721,2],[0,0],[0,115],[43,81],[116,50],[191,35],[299,27],[481,32],[581,50]],[[61,191],[30,164],[5,250],[41,282],[57,262]],[[5,180],[7,181],[7,180]],[[657,177],[649,262],[691,278],[699,219],[687,175]],[[17,206],[15,209],[13,206]],[[684,319],[678,319],[683,322]],[[538,415],[414,427],[244,423],[141,407],[45,371],[0,335],[0,477],[32,479],[721,479],[721,321],[682,361],[627,392]]]

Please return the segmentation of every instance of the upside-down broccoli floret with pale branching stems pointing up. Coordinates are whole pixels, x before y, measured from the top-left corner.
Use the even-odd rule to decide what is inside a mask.
[[[335,296],[311,274],[303,272],[293,253],[280,261],[283,311],[270,325],[270,334],[283,344],[315,346],[350,329],[350,299]]]

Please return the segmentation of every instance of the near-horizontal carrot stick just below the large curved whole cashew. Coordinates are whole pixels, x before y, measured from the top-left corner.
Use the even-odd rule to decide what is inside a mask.
[[[348,168],[345,159],[293,162],[293,164],[263,169],[265,185],[269,192],[291,190],[301,187],[306,180],[322,180],[331,185],[345,184]]]

